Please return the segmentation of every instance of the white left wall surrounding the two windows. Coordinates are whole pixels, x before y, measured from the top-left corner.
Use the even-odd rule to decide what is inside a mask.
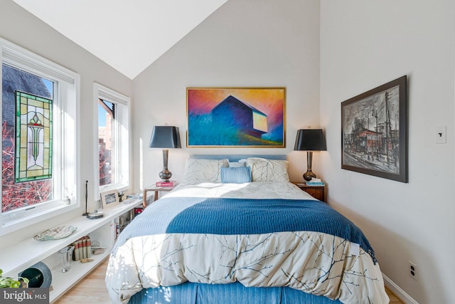
[[[75,25],[77,26],[77,25]],[[101,83],[124,95],[132,96],[132,80],[118,73],[100,59],[92,56],[60,33],[50,28],[14,1],[1,0],[0,36],[18,46],[37,53],[50,61],[80,74],[80,193],[81,208],[44,223],[27,227],[9,236],[0,237],[0,250],[35,235],[37,232],[65,223],[85,211],[85,181],[89,181],[88,209],[97,207],[93,201],[93,178],[95,176],[93,157],[97,137],[97,121],[94,115],[93,82]]]

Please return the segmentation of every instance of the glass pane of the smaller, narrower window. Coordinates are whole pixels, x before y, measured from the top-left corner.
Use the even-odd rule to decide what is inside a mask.
[[[100,156],[100,186],[114,180],[114,103],[98,99],[98,154]]]

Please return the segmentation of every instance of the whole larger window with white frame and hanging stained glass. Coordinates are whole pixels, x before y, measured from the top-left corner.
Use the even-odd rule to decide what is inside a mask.
[[[80,75],[0,38],[0,236],[80,204]]]

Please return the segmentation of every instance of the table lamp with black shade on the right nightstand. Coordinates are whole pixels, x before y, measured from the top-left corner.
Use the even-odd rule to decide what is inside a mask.
[[[311,163],[313,162],[313,151],[327,151],[326,139],[324,138],[322,129],[301,129],[297,131],[296,144],[294,150],[306,151],[307,169],[304,173],[304,179],[311,181],[312,177],[316,178],[316,174],[311,171]]]

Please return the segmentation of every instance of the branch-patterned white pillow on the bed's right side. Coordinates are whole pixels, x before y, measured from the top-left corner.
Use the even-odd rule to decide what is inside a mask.
[[[247,158],[247,166],[251,167],[252,182],[289,182],[287,160]]]

